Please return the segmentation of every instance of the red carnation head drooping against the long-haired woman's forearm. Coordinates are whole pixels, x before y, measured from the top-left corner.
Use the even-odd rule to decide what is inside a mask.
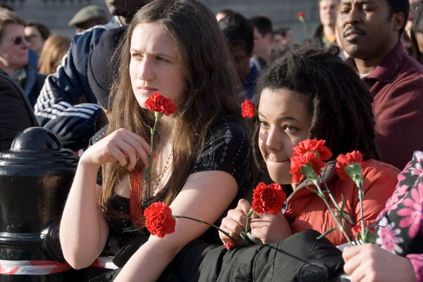
[[[172,210],[164,203],[152,203],[144,211],[145,227],[159,238],[175,232],[176,220],[172,217]]]

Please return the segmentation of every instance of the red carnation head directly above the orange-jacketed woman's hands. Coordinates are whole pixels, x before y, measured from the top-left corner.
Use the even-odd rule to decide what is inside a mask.
[[[260,182],[253,191],[252,209],[258,214],[263,212],[278,214],[281,212],[285,200],[286,194],[281,185],[274,183],[266,186],[266,184]]]

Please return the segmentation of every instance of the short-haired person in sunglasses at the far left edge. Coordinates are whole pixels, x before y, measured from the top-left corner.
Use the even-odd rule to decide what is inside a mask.
[[[44,75],[28,63],[30,45],[25,40],[25,21],[13,11],[0,10],[0,68],[24,89],[30,104],[35,105],[44,84]]]

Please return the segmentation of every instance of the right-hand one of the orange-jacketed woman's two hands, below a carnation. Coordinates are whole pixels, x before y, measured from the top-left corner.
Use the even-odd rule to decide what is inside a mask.
[[[251,235],[259,238],[264,244],[281,241],[291,235],[293,231],[282,212],[278,214],[263,213],[260,218],[252,219]]]

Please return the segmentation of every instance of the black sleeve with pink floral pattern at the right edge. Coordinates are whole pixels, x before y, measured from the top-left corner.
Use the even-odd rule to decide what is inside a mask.
[[[423,282],[423,152],[417,151],[376,223],[376,244],[412,263]]]

